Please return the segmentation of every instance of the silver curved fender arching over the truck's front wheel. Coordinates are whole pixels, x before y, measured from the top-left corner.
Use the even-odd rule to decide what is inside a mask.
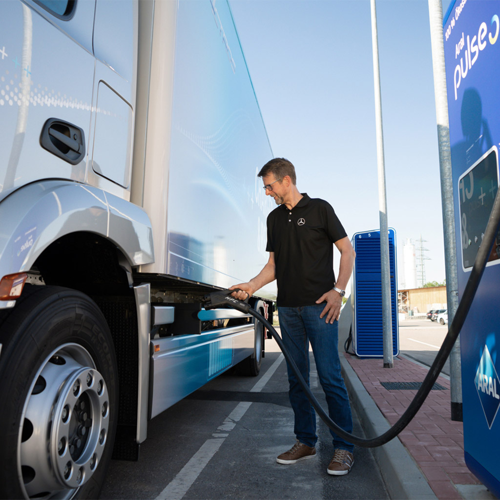
[[[28,271],[47,246],[77,231],[112,241],[132,266],[154,261],[145,211],[93,186],[65,180],[28,184],[0,202],[0,220],[0,278]]]

